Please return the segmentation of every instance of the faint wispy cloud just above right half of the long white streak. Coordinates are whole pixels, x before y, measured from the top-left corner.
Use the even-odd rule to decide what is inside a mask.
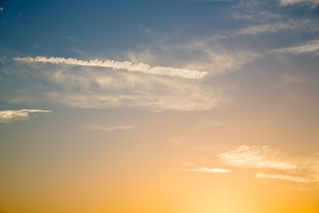
[[[163,44],[148,47],[142,51],[128,51],[128,59],[155,64],[157,61],[166,64],[183,64],[191,70],[205,70],[209,75],[223,75],[240,70],[246,64],[261,58],[261,54],[236,48],[229,48],[221,42],[227,36],[211,36],[206,39],[192,40],[187,43]]]

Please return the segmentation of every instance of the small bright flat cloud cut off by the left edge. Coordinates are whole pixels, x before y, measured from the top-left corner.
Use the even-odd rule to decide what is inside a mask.
[[[51,110],[42,109],[20,109],[20,110],[4,110],[0,111],[0,122],[11,122],[19,120],[27,120],[31,113],[51,113]]]

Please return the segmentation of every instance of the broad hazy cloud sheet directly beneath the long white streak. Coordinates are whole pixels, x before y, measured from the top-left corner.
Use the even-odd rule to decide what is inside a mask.
[[[221,83],[208,84],[204,82],[206,79],[192,81],[49,63],[16,63],[6,73],[5,84],[0,83],[0,94],[5,93],[4,100],[14,104],[41,101],[82,108],[137,106],[160,112],[211,110],[230,103]]]

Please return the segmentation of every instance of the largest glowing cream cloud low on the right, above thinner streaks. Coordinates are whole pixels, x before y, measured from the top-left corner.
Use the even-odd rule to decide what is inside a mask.
[[[268,146],[239,146],[236,150],[218,154],[222,162],[241,168],[268,168],[276,170],[295,170],[297,165],[283,162],[274,156]]]

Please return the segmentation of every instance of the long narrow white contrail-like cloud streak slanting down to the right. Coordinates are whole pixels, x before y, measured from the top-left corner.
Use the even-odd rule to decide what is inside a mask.
[[[150,65],[139,63],[133,64],[130,61],[115,61],[115,60],[81,60],[81,59],[65,59],[65,58],[46,58],[46,57],[35,57],[35,58],[13,58],[16,61],[24,63],[52,63],[62,65],[77,65],[84,67],[107,67],[113,69],[123,69],[130,72],[141,72],[152,75],[172,75],[183,78],[203,78],[207,73],[200,72],[197,70],[174,68],[174,67],[151,67]]]

